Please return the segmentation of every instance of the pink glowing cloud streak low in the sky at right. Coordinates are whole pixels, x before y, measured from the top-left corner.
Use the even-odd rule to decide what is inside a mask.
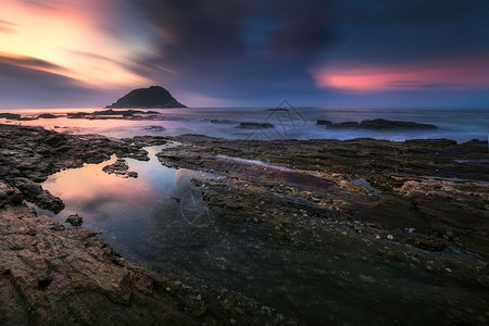
[[[331,67],[313,71],[312,76],[317,87],[364,92],[489,87],[487,58],[400,65],[330,65]]]

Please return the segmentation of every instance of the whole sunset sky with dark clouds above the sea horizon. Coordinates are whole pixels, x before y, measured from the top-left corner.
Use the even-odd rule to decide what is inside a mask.
[[[0,0],[0,108],[489,108],[488,0]]]

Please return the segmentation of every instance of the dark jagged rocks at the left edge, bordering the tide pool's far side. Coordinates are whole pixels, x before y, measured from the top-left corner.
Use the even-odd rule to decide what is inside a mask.
[[[24,198],[41,209],[60,212],[62,200],[43,190],[38,183],[64,168],[80,167],[84,163],[101,163],[116,154],[147,161],[142,147],[163,145],[163,139],[147,137],[134,142],[110,140],[98,135],[72,136],[40,127],[0,125],[0,179],[18,189]]]

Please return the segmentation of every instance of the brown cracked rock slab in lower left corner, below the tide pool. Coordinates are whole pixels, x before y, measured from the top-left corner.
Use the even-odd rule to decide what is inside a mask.
[[[265,323],[209,305],[195,289],[124,260],[95,233],[37,216],[14,198],[0,210],[0,229],[2,325]]]

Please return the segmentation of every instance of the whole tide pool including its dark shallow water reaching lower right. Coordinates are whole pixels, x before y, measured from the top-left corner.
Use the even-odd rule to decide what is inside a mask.
[[[366,239],[348,223],[293,216],[297,225],[309,227],[277,229],[222,218],[190,183],[213,176],[163,166],[155,158],[160,148],[147,148],[149,162],[126,159],[138,178],[103,173],[115,156],[50,176],[42,186],[66,209],[41,213],[63,223],[77,213],[83,226],[142,266],[238,291],[308,325],[436,324],[447,322],[437,313],[446,309],[446,297],[453,304],[474,303],[472,292],[444,291],[409,263],[379,261],[377,250],[367,247],[398,244]],[[358,183],[376,190],[366,180]]]

